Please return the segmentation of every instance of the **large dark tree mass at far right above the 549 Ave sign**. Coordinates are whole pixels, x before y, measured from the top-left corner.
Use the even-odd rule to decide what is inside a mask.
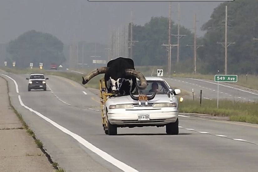
[[[202,26],[206,31],[202,39],[205,48],[199,56],[207,63],[205,71],[224,71],[224,48],[216,42],[224,42],[225,6],[228,6],[228,42],[236,44],[228,48],[229,73],[258,73],[258,3],[257,0],[237,0],[221,3]]]

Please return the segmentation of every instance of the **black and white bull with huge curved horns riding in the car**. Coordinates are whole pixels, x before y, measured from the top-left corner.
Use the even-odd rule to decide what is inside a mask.
[[[82,80],[86,84],[91,78],[105,73],[105,85],[109,93],[119,95],[130,95],[136,87],[136,78],[141,82],[138,89],[145,89],[147,81],[142,73],[136,71],[134,62],[130,58],[116,58],[107,63],[107,67],[97,68]]]

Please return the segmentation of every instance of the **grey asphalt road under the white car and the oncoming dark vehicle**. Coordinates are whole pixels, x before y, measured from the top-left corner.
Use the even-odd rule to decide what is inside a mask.
[[[1,73],[13,106],[66,171],[258,169],[258,125],[191,115],[179,117],[179,135],[166,135],[165,127],[143,127],[118,128],[118,135],[108,136],[101,125],[99,98],[80,84],[48,76],[47,91],[28,92],[26,75],[5,74],[17,82],[18,93],[13,80]]]

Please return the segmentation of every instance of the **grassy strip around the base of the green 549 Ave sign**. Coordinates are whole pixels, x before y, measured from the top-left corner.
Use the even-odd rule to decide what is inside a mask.
[[[179,112],[211,114],[214,116],[229,117],[231,121],[258,124],[258,104],[241,101],[220,100],[219,109],[217,100],[184,100],[179,105]]]

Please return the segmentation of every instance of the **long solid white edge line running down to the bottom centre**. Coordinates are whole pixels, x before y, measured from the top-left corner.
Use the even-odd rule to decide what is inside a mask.
[[[132,172],[138,172],[136,169],[130,167],[129,165],[127,165],[127,164],[119,161],[118,159],[112,157],[110,154],[107,154],[103,150],[97,148],[96,146],[94,146],[93,144],[88,142],[87,140],[83,139],[78,134],[75,134],[75,133],[71,132],[70,130],[64,128],[63,126],[57,124],[56,122],[52,121],[51,119],[49,119],[49,118],[45,117],[44,115],[40,114],[39,112],[37,112],[37,111],[29,108],[28,106],[24,105],[20,95],[18,95],[18,99],[19,99],[20,104],[24,108],[28,109],[31,112],[34,112],[36,115],[38,115],[42,119],[46,120],[50,124],[54,125],[56,128],[60,129],[64,133],[70,135],[75,140],[77,140],[80,144],[84,145],[87,149],[90,149],[92,152],[94,152],[95,154],[99,155],[101,158],[105,159],[106,161],[110,162],[111,164],[115,165],[117,168],[119,168],[119,169],[121,169],[121,170],[123,170],[125,172],[131,172],[131,171]]]

